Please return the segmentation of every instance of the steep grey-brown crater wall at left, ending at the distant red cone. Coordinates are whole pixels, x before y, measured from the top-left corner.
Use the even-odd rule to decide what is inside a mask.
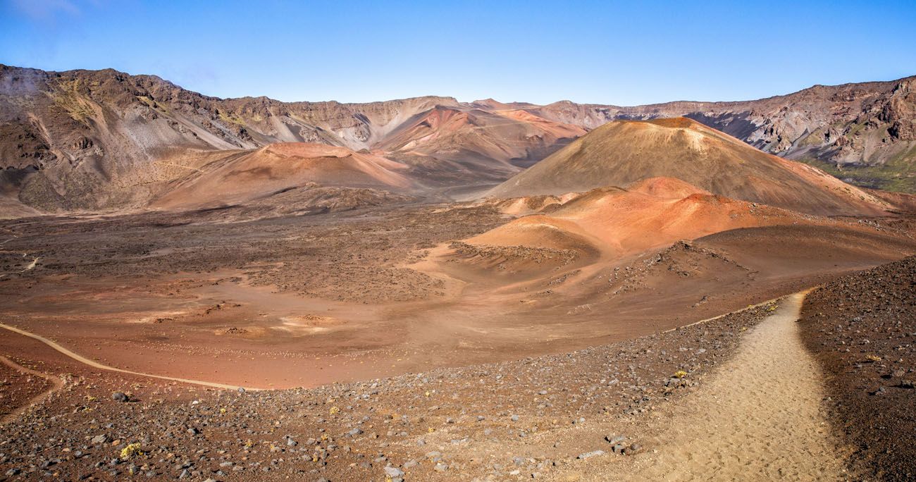
[[[0,66],[4,194],[43,211],[141,206],[182,174],[172,159],[277,142],[369,148],[439,104],[217,99],[156,76]]]

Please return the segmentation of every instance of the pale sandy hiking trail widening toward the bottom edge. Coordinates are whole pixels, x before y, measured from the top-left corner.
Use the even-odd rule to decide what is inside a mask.
[[[821,368],[796,320],[804,293],[786,297],[736,356],[677,406],[649,421],[649,451],[594,457],[564,480],[841,480],[841,449],[822,409]],[[653,449],[654,450],[651,450]],[[609,451],[608,451],[609,452]],[[594,460],[594,462],[592,462]]]

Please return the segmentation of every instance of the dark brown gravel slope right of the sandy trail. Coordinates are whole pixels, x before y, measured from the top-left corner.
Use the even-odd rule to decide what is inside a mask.
[[[916,257],[808,295],[805,344],[823,364],[834,427],[866,479],[916,478]]]

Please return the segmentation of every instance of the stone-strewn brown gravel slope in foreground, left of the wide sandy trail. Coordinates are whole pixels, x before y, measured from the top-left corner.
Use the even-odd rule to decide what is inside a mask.
[[[0,474],[8,480],[542,477],[594,457],[645,450],[632,422],[695,388],[768,312],[752,308],[563,355],[318,389],[213,390],[86,373],[3,428]]]

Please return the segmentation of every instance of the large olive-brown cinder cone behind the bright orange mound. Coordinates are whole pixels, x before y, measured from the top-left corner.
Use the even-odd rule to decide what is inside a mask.
[[[889,203],[810,166],[766,154],[684,117],[614,121],[489,195],[581,192],[671,177],[714,194],[808,214],[881,214]]]

